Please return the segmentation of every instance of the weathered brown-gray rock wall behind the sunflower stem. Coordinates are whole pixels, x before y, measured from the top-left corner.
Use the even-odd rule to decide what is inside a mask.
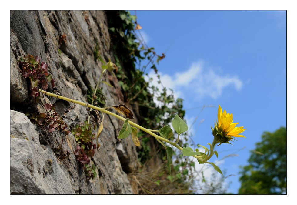
[[[48,65],[61,96],[87,102],[89,86],[95,87],[101,74],[101,65],[94,50],[105,62],[112,61],[112,46],[107,18],[102,11],[11,11],[10,12],[10,192],[12,194],[132,194],[128,173],[139,169],[138,154],[132,140],[116,137],[123,122],[105,115],[104,129],[91,163],[97,177],[86,180],[83,169],[76,161],[76,142],[70,133],[48,133],[33,125],[25,116],[27,111],[45,112],[44,104],[51,103],[62,116],[72,103],[42,96],[39,103],[29,97],[27,81],[18,71],[17,60],[38,55]],[[66,42],[59,45],[61,35]],[[98,48],[98,46],[97,46]],[[62,53],[58,53],[58,49]],[[106,106],[118,105],[123,96],[118,80],[105,72]],[[49,86],[48,91],[52,91]],[[115,113],[114,110],[110,110]],[[87,119],[87,110],[77,105],[67,113],[65,123],[69,129]],[[68,159],[59,160],[54,151],[63,142]],[[94,141],[95,143],[95,141]],[[130,177],[131,178],[131,177]]]

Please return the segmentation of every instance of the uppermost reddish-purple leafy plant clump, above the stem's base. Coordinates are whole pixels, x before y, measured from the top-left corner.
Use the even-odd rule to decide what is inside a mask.
[[[29,78],[31,82],[30,96],[34,96],[35,103],[39,102],[40,94],[37,86],[41,85],[42,89],[47,89],[48,84],[51,83],[52,88],[55,87],[55,80],[52,75],[47,72],[48,66],[46,63],[41,62],[38,56],[27,55],[24,59],[18,61],[18,66],[21,68],[20,72],[25,78]]]

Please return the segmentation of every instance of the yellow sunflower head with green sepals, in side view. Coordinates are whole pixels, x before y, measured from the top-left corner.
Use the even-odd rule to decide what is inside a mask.
[[[212,135],[221,143],[229,143],[229,141],[233,141],[233,137],[244,137],[243,135],[239,135],[246,129],[243,127],[235,127],[238,123],[233,123],[233,115],[226,112],[222,112],[222,108],[219,105],[218,110],[218,121],[215,123],[215,127],[212,128]],[[229,143],[231,144],[231,143]]]

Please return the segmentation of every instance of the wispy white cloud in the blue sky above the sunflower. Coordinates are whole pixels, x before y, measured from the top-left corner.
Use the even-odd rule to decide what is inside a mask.
[[[159,75],[164,87],[173,89],[175,97],[184,99],[184,93],[187,91],[194,92],[198,98],[209,96],[217,99],[226,87],[233,86],[236,90],[240,90],[243,84],[237,76],[221,75],[212,68],[205,68],[202,60],[192,63],[185,72],[177,72],[172,76],[159,72]],[[152,85],[162,89],[153,71],[149,76],[153,78]]]

